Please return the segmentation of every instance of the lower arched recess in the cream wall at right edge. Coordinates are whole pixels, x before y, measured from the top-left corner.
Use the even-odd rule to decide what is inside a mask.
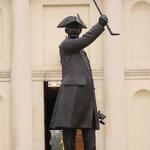
[[[133,95],[133,142],[135,150],[150,149],[150,91],[139,90]]]

